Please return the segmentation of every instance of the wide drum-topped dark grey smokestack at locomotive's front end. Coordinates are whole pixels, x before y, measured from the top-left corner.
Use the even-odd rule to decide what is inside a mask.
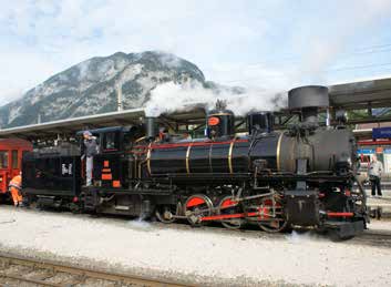
[[[320,107],[329,106],[329,89],[322,85],[306,85],[288,92],[288,107],[301,113],[301,122],[318,123]]]

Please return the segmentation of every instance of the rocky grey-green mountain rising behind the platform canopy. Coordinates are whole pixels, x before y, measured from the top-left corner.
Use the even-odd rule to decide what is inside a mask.
[[[116,89],[122,86],[123,107],[142,106],[151,90],[164,82],[198,81],[205,85],[203,72],[193,63],[174,54],[147,51],[117,52],[96,57],[58,73],[20,100],[0,107],[0,126],[49,122],[116,110]]]

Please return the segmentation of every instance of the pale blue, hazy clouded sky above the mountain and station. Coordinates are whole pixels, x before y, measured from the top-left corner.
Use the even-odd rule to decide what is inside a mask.
[[[391,0],[0,0],[0,105],[92,57],[158,50],[227,85],[391,76]]]

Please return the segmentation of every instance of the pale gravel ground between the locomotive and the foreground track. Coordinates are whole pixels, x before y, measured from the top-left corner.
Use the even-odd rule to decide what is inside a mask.
[[[391,222],[373,221],[370,228],[391,240]],[[209,286],[391,286],[385,244],[163,227],[9,206],[0,206],[0,250]]]

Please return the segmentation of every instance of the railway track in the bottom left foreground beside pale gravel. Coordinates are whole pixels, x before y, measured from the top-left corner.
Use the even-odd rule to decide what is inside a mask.
[[[0,286],[193,286],[0,254]]]

